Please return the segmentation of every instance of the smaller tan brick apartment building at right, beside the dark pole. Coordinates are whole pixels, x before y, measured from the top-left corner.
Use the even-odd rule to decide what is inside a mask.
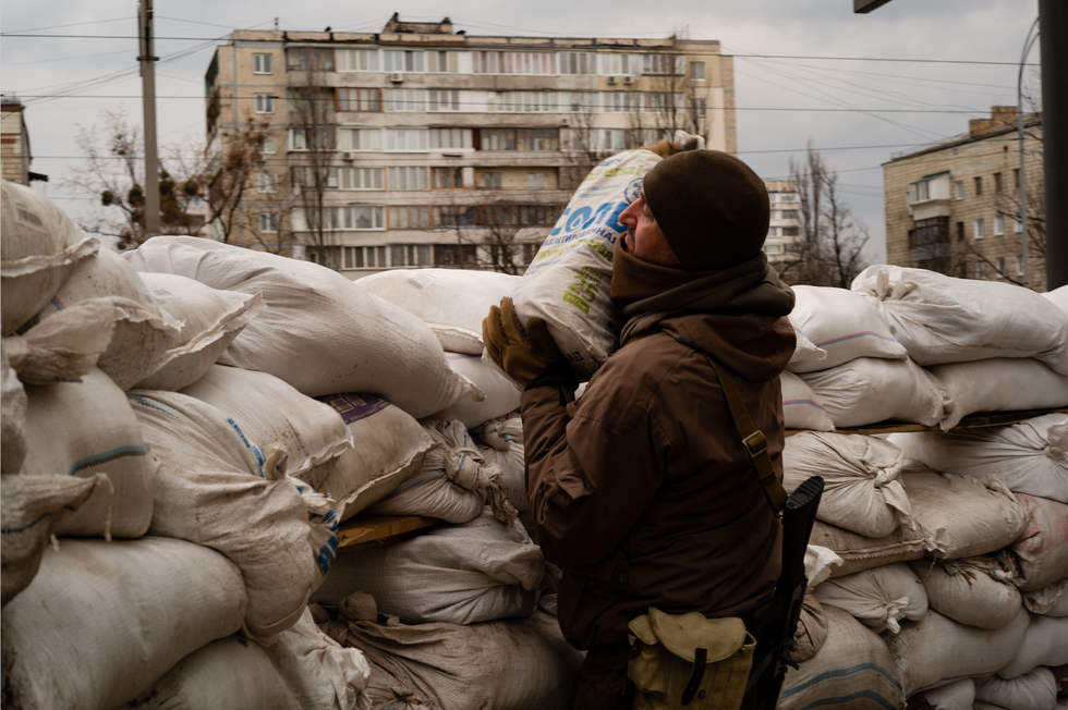
[[[1029,237],[1020,219],[1016,107],[995,106],[968,133],[883,164],[889,264],[1045,290],[1042,120],[1024,117]]]

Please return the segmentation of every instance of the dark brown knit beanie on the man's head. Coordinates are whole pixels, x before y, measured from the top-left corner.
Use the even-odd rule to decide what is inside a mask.
[[[770,204],[764,181],[719,150],[687,150],[645,175],[645,203],[687,271],[728,269],[761,253]]]

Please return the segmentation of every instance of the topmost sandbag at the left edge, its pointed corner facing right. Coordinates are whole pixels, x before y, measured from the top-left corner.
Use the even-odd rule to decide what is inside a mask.
[[[0,332],[10,335],[45,307],[100,242],[29,187],[2,181],[0,203]]]

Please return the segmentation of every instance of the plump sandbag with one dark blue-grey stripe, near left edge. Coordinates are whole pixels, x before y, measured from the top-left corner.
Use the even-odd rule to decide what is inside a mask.
[[[126,395],[94,368],[74,382],[27,387],[25,476],[107,474],[89,500],[64,517],[63,536],[139,538],[148,531],[159,462]]]

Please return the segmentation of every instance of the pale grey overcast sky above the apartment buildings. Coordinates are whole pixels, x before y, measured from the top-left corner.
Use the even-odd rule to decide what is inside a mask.
[[[719,40],[724,53],[737,57],[739,156],[765,180],[785,180],[791,157],[802,158],[810,143],[821,150],[870,229],[871,262],[886,254],[879,166],[891,154],[966,132],[968,120],[988,117],[991,106],[1015,106],[1020,53],[1037,13],[1035,0],[893,0],[866,15],[853,14],[852,0],[154,4],[161,145],[203,142],[213,47],[233,28],[271,28],[276,20],[281,29],[380,32],[397,11],[408,21],[449,16],[469,35],[689,33]],[[0,91],[23,99],[32,168],[52,181],[35,187],[77,218],[93,200],[57,184],[77,164],[77,124],[92,126],[101,109],[119,108],[141,121],[137,2],[0,0]],[[1037,46],[1029,62],[1037,64]],[[1035,71],[1025,72],[1025,82],[1029,74],[1036,82]],[[116,81],[90,84],[101,78]],[[60,93],[70,96],[54,97]]]

